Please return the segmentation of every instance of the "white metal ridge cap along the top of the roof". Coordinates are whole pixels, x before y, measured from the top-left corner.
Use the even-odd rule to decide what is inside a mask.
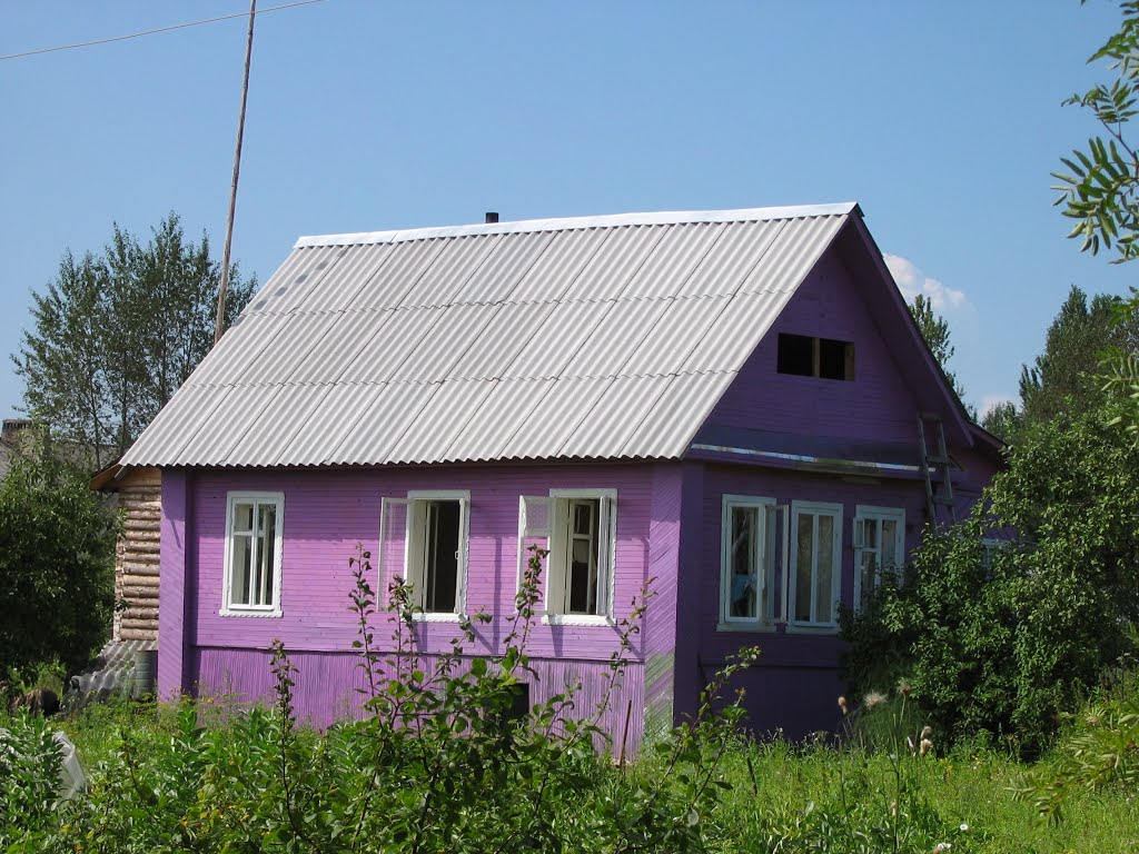
[[[719,222],[767,222],[812,216],[842,216],[858,210],[857,202],[821,205],[792,205],[786,207],[743,207],[723,211],[658,211],[646,213],[605,214],[600,216],[567,216],[544,220],[516,220],[513,222],[477,223],[470,225],[440,225],[390,231],[359,231],[345,235],[313,235],[300,237],[294,249],[318,246],[363,246],[427,240],[440,237],[474,237],[478,235],[534,233],[539,231],[570,231],[574,229],[618,228],[622,225],[678,225]]]

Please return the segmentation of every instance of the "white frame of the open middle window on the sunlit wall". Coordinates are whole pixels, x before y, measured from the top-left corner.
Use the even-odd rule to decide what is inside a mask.
[[[426,525],[424,514],[429,501],[459,502],[458,577],[453,611],[427,610],[427,584],[424,578],[423,550]],[[426,623],[454,623],[467,613],[467,564],[470,553],[470,492],[468,490],[411,490],[405,499],[384,499],[380,516],[393,504],[405,507],[403,531],[403,581],[411,585],[413,601],[418,606],[413,618]],[[380,537],[384,536],[384,519],[380,519]],[[380,549],[383,550],[383,539]],[[380,573],[383,573],[383,565]],[[383,584],[383,575],[380,576]]]

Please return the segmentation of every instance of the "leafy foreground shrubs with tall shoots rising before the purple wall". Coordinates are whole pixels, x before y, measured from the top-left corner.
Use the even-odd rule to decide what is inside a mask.
[[[461,658],[469,633],[450,655],[431,663],[418,656],[412,597],[399,580],[391,588],[391,607],[400,617],[400,654],[382,659],[372,651],[375,605],[364,581],[367,564],[361,553],[354,594],[368,684],[363,720],[323,733],[297,729],[294,671],[278,646],[272,708],[254,707],[208,724],[203,707],[187,703],[166,713],[161,737],[123,728],[118,745],[93,770],[85,797],[52,810],[0,803],[6,807],[0,847],[521,853],[885,846],[918,854],[952,837],[936,811],[912,796],[901,764],[918,762],[909,754],[880,787],[860,783],[810,808],[780,802],[778,808],[754,813],[751,830],[738,824],[743,813],[737,807],[759,799],[760,779],[755,748],[736,736],[741,711],[730,681],[754,654],[716,676],[691,721],[636,764],[615,764],[597,725],[604,708],[575,708],[573,687],[511,718],[515,687],[536,675],[525,652],[539,601],[536,555],[518,598],[518,622],[503,655],[493,660]],[[623,625],[611,685],[623,678],[642,607],[642,600],[636,602],[633,619]],[[35,726],[11,723],[33,754]],[[40,754],[15,777],[42,790],[49,765]],[[751,773],[746,781],[737,775],[734,789],[727,777],[739,767],[738,757]],[[737,847],[753,837],[768,841]]]

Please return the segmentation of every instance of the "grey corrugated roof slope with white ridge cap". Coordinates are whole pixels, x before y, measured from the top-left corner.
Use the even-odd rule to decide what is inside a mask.
[[[853,204],[302,238],[123,458],[677,458]]]

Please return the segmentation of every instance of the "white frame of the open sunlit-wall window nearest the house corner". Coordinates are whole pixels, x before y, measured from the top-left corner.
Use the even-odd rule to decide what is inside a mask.
[[[570,507],[575,499],[596,500],[598,502],[597,537],[597,601],[598,614],[566,614],[564,601],[566,593],[566,557],[568,542],[566,533],[570,525]],[[528,526],[526,507],[543,506],[546,525],[539,528]],[[527,556],[525,540],[540,539],[544,535],[546,558],[543,577],[542,623],[550,625],[612,625],[613,624],[613,586],[616,577],[617,548],[617,491],[612,488],[551,488],[548,496],[519,496],[518,515],[518,582]],[[560,601],[559,601],[560,600]]]

